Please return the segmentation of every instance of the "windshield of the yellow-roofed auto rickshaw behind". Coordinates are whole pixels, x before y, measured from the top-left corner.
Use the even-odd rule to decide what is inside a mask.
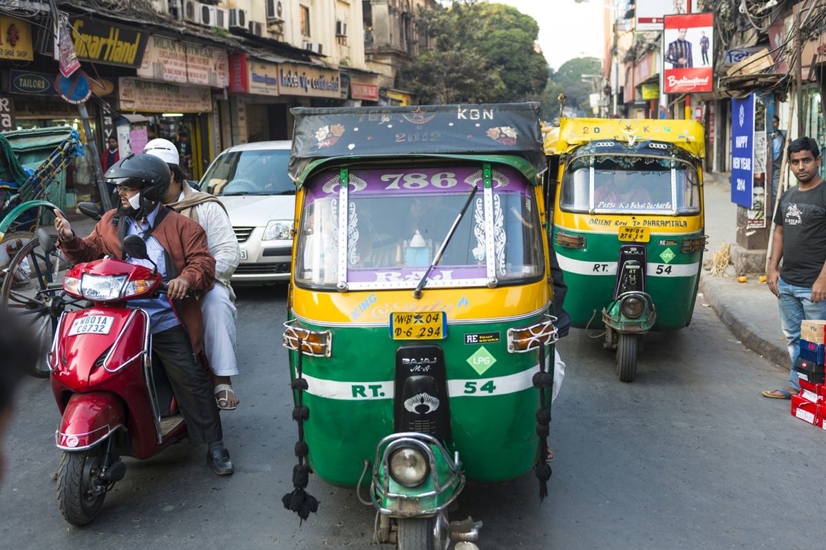
[[[691,164],[672,158],[586,155],[566,167],[561,204],[572,212],[699,214],[700,183]]]

